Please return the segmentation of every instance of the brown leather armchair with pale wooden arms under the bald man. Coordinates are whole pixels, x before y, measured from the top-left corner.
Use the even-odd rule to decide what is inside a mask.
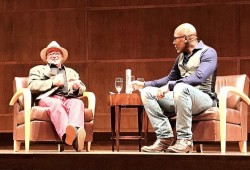
[[[217,76],[215,91],[219,107],[212,107],[193,116],[193,140],[200,143],[220,142],[221,153],[226,152],[226,141],[239,142],[240,151],[247,152],[247,120],[250,104],[249,78],[246,75]]]

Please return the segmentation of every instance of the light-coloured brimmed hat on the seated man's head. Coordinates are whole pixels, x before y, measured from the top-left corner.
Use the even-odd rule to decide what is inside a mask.
[[[41,59],[47,62],[47,51],[51,48],[59,49],[62,52],[63,62],[68,58],[68,51],[61,47],[56,41],[52,41],[46,48],[42,49],[40,52]]]

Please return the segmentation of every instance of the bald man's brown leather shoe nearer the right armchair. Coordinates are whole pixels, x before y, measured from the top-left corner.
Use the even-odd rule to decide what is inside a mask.
[[[169,146],[167,151],[172,153],[191,153],[193,151],[193,140],[177,139],[175,145]]]

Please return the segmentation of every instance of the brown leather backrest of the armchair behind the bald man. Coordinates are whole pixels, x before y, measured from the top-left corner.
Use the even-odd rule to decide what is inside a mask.
[[[239,90],[242,90],[246,95],[249,91],[249,78],[245,75],[229,75],[229,76],[217,76],[215,91],[217,95],[220,95],[220,89],[223,86],[234,86]],[[237,95],[229,94],[227,98],[227,108],[237,109],[239,107],[241,99]]]

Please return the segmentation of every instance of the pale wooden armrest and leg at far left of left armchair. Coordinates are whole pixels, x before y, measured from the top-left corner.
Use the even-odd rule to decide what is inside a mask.
[[[30,142],[30,114],[31,114],[31,92],[28,88],[20,88],[14,94],[10,101],[10,105],[14,105],[18,98],[23,96],[24,98],[24,124],[25,124],[25,151],[29,151],[29,142]]]

